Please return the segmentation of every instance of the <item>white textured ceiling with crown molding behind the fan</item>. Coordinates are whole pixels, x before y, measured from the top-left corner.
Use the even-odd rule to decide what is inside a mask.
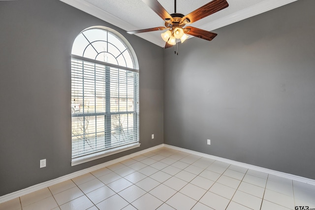
[[[123,30],[140,30],[164,26],[164,21],[142,0],[61,0]],[[211,0],[177,0],[176,12],[184,15]],[[203,30],[216,30],[296,0],[227,0],[229,6],[221,11],[190,24]],[[174,13],[174,0],[158,0],[168,11]],[[161,31],[136,35],[164,47]],[[220,35],[220,34],[219,34]],[[206,40],[205,40],[206,41]]]

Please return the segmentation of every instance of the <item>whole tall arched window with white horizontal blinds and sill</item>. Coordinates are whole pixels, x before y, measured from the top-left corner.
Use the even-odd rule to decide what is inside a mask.
[[[71,53],[72,165],[139,147],[139,70],[117,31],[93,27]]]

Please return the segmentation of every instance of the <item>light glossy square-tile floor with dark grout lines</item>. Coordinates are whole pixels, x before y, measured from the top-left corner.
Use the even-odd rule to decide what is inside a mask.
[[[294,210],[315,186],[160,148],[0,204],[0,210]]]

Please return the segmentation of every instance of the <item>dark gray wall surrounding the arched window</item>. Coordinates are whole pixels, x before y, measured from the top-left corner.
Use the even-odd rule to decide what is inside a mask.
[[[138,57],[141,146],[71,167],[71,47],[98,25],[118,30]],[[0,196],[162,144],[162,62],[162,48],[59,0],[0,1]]]

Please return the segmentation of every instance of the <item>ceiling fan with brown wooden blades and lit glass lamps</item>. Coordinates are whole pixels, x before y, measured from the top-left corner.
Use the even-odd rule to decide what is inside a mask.
[[[165,27],[156,27],[151,29],[133,30],[128,31],[130,34],[156,31],[156,30],[167,30],[162,33],[162,39],[166,42],[165,48],[172,47],[175,45],[176,39],[180,39],[183,43],[189,36],[196,36],[208,41],[211,41],[217,36],[217,33],[213,33],[207,30],[197,29],[191,26],[185,27],[185,25],[196,22],[204,17],[207,17],[213,13],[220,11],[228,7],[226,0],[212,0],[202,7],[190,12],[188,15],[176,13],[176,0],[175,0],[175,13],[169,14],[158,0],[142,0],[144,1],[153,11],[155,11],[159,17],[165,21]]]

